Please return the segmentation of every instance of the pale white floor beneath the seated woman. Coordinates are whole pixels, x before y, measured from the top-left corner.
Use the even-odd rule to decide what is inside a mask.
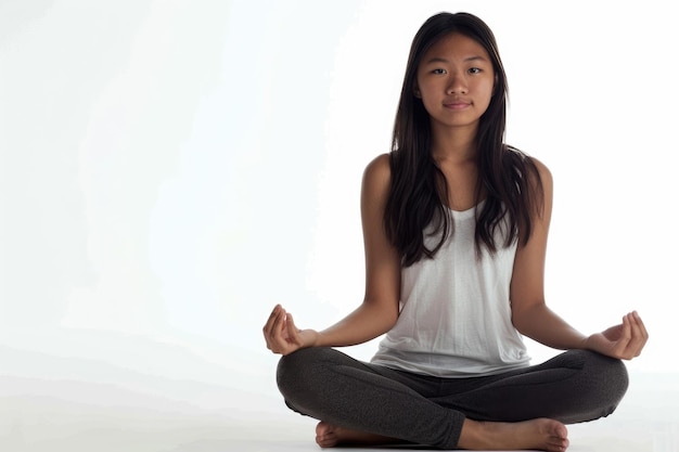
[[[232,354],[229,366],[185,347],[87,339],[68,344],[107,359],[82,346],[57,353],[0,344],[0,451],[319,450],[316,422],[287,411],[276,392],[272,357],[244,363]],[[618,410],[569,426],[569,437],[572,452],[678,452],[679,375],[632,373]]]

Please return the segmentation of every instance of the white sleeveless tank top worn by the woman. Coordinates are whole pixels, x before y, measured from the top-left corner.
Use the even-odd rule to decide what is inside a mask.
[[[479,207],[481,208],[481,207]],[[371,362],[440,377],[482,376],[524,367],[530,357],[511,321],[516,242],[476,258],[475,208],[452,211],[454,231],[434,259],[401,271],[400,315]],[[425,230],[431,249],[439,235]],[[430,234],[427,234],[430,233]]]

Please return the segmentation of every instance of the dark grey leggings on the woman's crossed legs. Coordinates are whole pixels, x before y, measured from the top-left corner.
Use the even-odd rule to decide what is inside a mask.
[[[456,449],[465,417],[574,424],[607,416],[628,385],[622,361],[586,350],[499,375],[440,378],[307,348],[281,358],[277,380],[300,414],[440,449]]]

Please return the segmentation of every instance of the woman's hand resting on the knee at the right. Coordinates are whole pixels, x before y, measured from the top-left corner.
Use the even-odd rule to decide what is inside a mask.
[[[625,315],[622,324],[589,336],[586,346],[601,354],[631,360],[641,354],[646,340],[649,333],[641,317],[635,311]]]

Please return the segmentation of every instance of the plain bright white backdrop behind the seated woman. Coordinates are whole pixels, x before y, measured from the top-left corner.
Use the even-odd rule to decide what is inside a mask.
[[[586,333],[639,310],[630,370],[679,371],[670,3],[0,0],[0,375],[273,397],[274,304],[361,301],[361,173],[439,11],[495,30],[508,142],[553,172],[548,304]]]

